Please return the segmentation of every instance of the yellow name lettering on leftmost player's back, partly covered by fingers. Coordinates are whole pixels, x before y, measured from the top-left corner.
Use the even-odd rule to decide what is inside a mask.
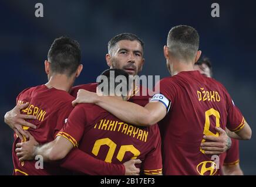
[[[17,105],[22,105],[23,101],[18,101]],[[39,121],[43,121],[46,115],[46,111],[39,108],[38,106],[34,106],[32,104],[29,104],[28,108],[21,110],[21,112],[27,114],[27,115],[33,115],[36,116],[36,119]]]

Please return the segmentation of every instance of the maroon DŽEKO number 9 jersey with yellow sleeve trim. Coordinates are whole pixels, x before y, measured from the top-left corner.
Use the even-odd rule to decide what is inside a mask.
[[[163,174],[219,175],[220,157],[200,149],[203,136],[219,136],[215,127],[238,131],[244,117],[223,85],[198,71],[184,71],[161,79],[160,94],[153,97],[169,112],[159,128],[162,138]],[[213,167],[212,167],[213,166]]]

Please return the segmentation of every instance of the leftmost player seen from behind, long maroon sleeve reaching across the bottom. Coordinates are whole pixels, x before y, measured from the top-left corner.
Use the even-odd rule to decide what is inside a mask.
[[[22,105],[29,102],[29,106],[22,110],[22,115],[32,115],[33,119],[29,122],[36,127],[34,129],[23,127],[23,130],[28,130],[38,143],[44,144],[54,140],[58,131],[62,129],[65,120],[68,119],[73,110],[71,102],[74,100],[68,91],[82,68],[79,43],[69,37],[60,37],[53,41],[48,53],[48,60],[45,61],[48,82],[27,88],[19,93],[16,103]],[[12,150],[14,175],[69,174],[63,168],[56,167],[58,164],[44,163],[43,168],[36,168],[35,160],[26,162],[19,160],[19,153],[17,156],[15,152],[16,144],[20,143],[21,140],[22,142],[26,141],[27,137],[22,137],[16,129],[15,132]],[[86,174],[124,174],[123,165],[110,165],[96,160],[78,149],[74,149],[68,155],[62,166]]]

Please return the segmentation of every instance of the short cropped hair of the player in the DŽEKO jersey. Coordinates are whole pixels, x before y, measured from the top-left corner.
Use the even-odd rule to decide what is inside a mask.
[[[171,28],[167,37],[167,47],[177,59],[192,60],[199,47],[197,30],[186,25]]]

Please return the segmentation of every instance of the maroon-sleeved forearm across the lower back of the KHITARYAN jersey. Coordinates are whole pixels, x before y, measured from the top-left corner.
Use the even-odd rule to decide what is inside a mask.
[[[124,175],[123,164],[110,164],[84,153],[78,148],[72,151],[61,161],[60,167],[87,175]]]

